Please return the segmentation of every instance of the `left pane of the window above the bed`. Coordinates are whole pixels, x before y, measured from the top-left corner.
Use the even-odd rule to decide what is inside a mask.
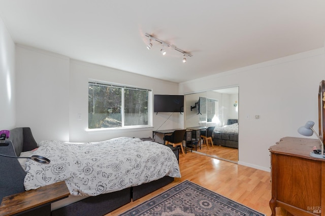
[[[122,89],[89,84],[88,128],[122,127]]]

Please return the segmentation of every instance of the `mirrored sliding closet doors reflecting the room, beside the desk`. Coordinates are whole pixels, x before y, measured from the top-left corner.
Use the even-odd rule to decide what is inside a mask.
[[[239,87],[185,95],[185,127],[196,137],[188,145],[195,144],[193,151],[238,161],[238,97]]]

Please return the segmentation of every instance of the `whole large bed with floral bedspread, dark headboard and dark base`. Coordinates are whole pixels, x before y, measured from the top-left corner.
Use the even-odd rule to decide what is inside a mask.
[[[132,200],[139,199],[152,191],[157,190],[158,188],[164,187],[165,185],[173,182],[174,177],[179,177],[179,167],[178,167],[178,149],[174,150],[170,147],[167,147],[165,145],[161,145],[155,142],[151,141],[142,141],[139,138],[128,138],[128,137],[121,137],[118,139],[113,139],[111,141],[105,141],[105,143],[100,143],[102,146],[100,147],[101,150],[104,150],[106,148],[105,145],[111,145],[111,146],[118,146],[118,148],[115,148],[114,150],[111,150],[110,154],[113,155],[111,157],[105,157],[106,154],[109,153],[103,153],[100,157],[104,158],[105,160],[110,160],[110,158],[114,158],[113,161],[115,161],[115,164],[103,164],[103,162],[100,162],[99,157],[94,157],[94,154],[91,155],[90,161],[92,161],[92,164],[90,164],[90,161],[84,162],[86,165],[83,164],[82,160],[78,157],[74,158],[73,154],[64,153],[66,151],[66,146],[64,145],[70,145],[73,144],[74,148],[82,149],[81,147],[87,146],[88,151],[91,152],[91,149],[89,147],[91,145],[96,145],[99,143],[63,143],[59,141],[44,141],[40,142],[40,146],[37,146],[37,143],[35,142],[34,138],[32,137],[30,128],[15,128],[14,130],[11,130],[10,138],[11,141],[9,141],[9,146],[7,147],[0,147],[0,153],[7,154],[7,155],[19,155],[21,152],[29,152],[36,148],[38,148],[35,151],[32,151],[32,154],[36,155],[42,155],[44,157],[47,157],[51,160],[52,164],[44,165],[44,164],[38,164],[34,161],[27,160],[26,164],[26,172],[23,170],[22,166],[19,164],[19,162],[16,159],[12,158],[5,158],[0,157],[0,163],[7,164],[7,166],[1,166],[0,171],[1,173],[6,173],[5,176],[1,177],[0,181],[0,199],[3,198],[3,200],[6,200],[6,198],[9,196],[13,196],[13,194],[24,194],[25,193],[25,187],[27,189],[36,189],[41,187],[46,188],[49,185],[51,186],[53,183],[57,184],[55,182],[60,181],[66,181],[67,184],[64,184],[64,186],[68,187],[70,190],[70,193],[75,195],[81,195],[82,199],[77,200],[74,203],[68,204],[64,203],[63,206],[59,206],[56,209],[51,209],[51,205],[55,206],[56,202],[46,205],[44,208],[44,205],[42,205],[39,208],[33,208],[29,209],[28,211],[24,213],[30,213],[30,215],[103,215],[105,213],[108,213],[128,202],[131,202]],[[130,154],[127,152],[127,148],[125,145],[119,145],[121,140],[124,142],[135,142],[133,145],[136,146],[136,150],[131,150],[137,152],[136,158],[127,157],[125,160],[119,158],[119,154],[117,153],[117,149],[121,150],[121,154],[123,152],[125,154]],[[103,146],[104,145],[104,146]],[[141,150],[140,146],[144,145],[146,147],[150,146],[150,152],[152,149],[159,149],[158,153],[155,153],[153,155],[148,154],[149,151],[143,151],[143,154],[139,154],[139,151]],[[131,145],[130,145],[131,146]],[[128,146],[128,148],[131,148]],[[53,155],[51,153],[51,149],[57,147],[56,149],[61,149],[60,155]],[[76,149],[75,149],[76,151]],[[82,149],[82,151],[85,151]],[[66,151],[68,152],[68,151]],[[170,154],[172,153],[172,154]],[[66,155],[64,155],[66,154]],[[168,155],[167,155],[168,154]],[[82,156],[84,157],[84,156]],[[147,159],[144,159],[144,157],[148,157]],[[173,165],[167,165],[161,168],[163,170],[167,170],[169,168],[170,171],[167,171],[167,173],[163,173],[163,171],[156,166],[157,164],[163,164],[164,162],[159,161],[157,158],[159,157],[165,157],[164,161],[173,161]],[[145,161],[146,165],[138,165],[137,162],[140,164],[140,160]],[[78,159],[78,160],[77,160]],[[175,163],[176,162],[176,163]],[[64,164],[75,164],[79,165],[79,170],[77,171],[70,171],[70,167],[65,167],[65,172],[62,172],[62,163]],[[128,167],[125,166],[125,168],[121,168],[121,164],[125,165],[128,163]],[[133,165],[132,165],[133,164]],[[111,172],[104,171],[103,166],[108,167]],[[129,172],[129,167],[133,166],[135,169],[139,168],[139,166],[143,167],[144,169],[142,171],[138,170],[138,173],[131,173]],[[171,167],[173,166],[173,167]],[[55,168],[53,168],[55,167]],[[96,169],[96,167],[100,167],[100,169]],[[158,171],[154,171],[157,168]],[[114,170],[116,172],[112,172]],[[123,169],[123,170],[122,170]],[[54,170],[54,173],[57,173],[58,175],[48,175],[47,172],[49,170]],[[68,170],[68,171],[67,171]],[[145,170],[149,170],[149,172],[145,172]],[[172,170],[172,171],[171,171]],[[178,171],[177,171],[178,170]],[[82,173],[83,172],[83,175]],[[87,175],[90,172],[94,174],[99,175]],[[133,176],[132,178],[126,178],[121,177],[121,173],[126,172],[129,176]],[[26,174],[27,173],[27,174]],[[64,176],[74,176],[78,179],[77,182],[73,182],[72,179],[64,179]],[[146,174],[147,173],[147,174]],[[121,177],[118,180],[109,180],[109,176],[118,176]],[[41,177],[40,177],[41,176]],[[100,176],[100,177],[99,177]],[[79,177],[79,178],[78,178]],[[87,178],[88,177],[88,178]],[[100,178],[100,179],[99,179]],[[137,181],[136,178],[142,178],[145,179],[143,182]],[[123,180],[121,180],[123,179]],[[131,179],[131,180],[130,180]],[[36,180],[36,181],[35,181]],[[83,182],[82,182],[83,181]],[[86,184],[87,183],[87,184]],[[85,185],[86,189],[88,188],[89,191],[82,189],[80,187],[81,185]],[[91,186],[95,185],[95,190],[90,190]],[[25,187],[24,187],[25,186]],[[71,186],[71,187],[70,187]],[[105,191],[108,188],[108,191]],[[105,190],[104,190],[105,189]],[[37,189],[36,191],[38,191]],[[57,189],[59,190],[59,188]],[[32,190],[35,191],[35,190]],[[28,191],[27,191],[28,192]],[[86,198],[84,197],[86,195]],[[72,195],[70,195],[72,196]],[[69,196],[69,197],[70,197]],[[78,196],[78,197],[79,197]],[[72,196],[77,197],[77,196]],[[66,199],[62,199],[58,202],[62,202]],[[41,201],[40,201],[41,202]],[[3,212],[3,203],[0,206],[0,215]]]

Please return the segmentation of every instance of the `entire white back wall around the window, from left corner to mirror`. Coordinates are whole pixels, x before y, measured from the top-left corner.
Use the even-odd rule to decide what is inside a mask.
[[[153,114],[153,128],[87,131],[88,80],[96,79],[152,89],[153,94],[177,94],[178,84],[56,53],[16,46],[17,127],[30,127],[37,142],[99,141],[118,136],[147,137],[152,130],[182,127],[178,113]],[[81,114],[81,120],[77,115]]]

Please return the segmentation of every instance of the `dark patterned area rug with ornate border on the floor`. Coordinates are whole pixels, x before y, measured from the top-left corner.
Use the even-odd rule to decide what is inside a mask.
[[[265,214],[186,180],[120,215],[259,216]]]

